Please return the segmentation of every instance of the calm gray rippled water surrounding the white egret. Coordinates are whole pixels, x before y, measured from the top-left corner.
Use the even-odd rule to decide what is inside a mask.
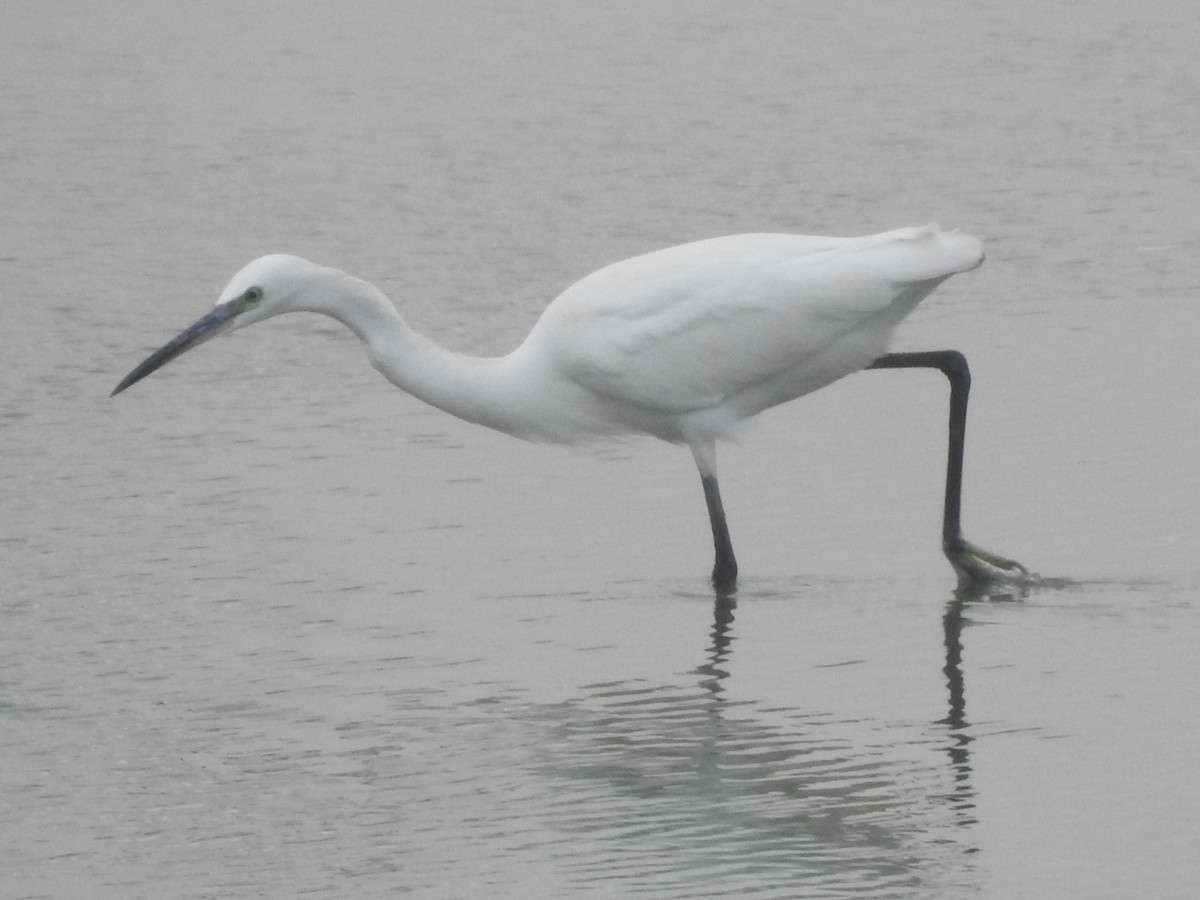
[[[1126,898],[1200,877],[1200,13],[0,5],[0,894]],[[242,263],[500,353],[605,263],[938,221],[989,262],[722,455],[530,446],[326,320],[109,400]]]

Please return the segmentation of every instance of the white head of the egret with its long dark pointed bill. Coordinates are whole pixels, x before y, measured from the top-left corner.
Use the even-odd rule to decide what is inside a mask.
[[[317,271],[320,266],[284,253],[259,257],[248,263],[221,292],[221,299],[211,312],[146,356],[121,379],[113,396],[217,335],[295,308],[294,302],[301,289]]]

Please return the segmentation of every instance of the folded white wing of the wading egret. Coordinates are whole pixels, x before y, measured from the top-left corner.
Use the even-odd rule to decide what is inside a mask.
[[[877,317],[878,348],[857,342],[868,358],[847,371],[869,364],[920,298],[982,259],[974,238],[931,226],[716,238],[589,275],[528,341],[594,394],[683,414],[802,366]]]

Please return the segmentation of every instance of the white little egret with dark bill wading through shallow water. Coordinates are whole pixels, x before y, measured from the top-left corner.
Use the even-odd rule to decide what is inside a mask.
[[[506,356],[454,353],[414,331],[384,294],[294,256],[256,259],[216,307],[130,372],[114,395],[216,335],[284,312],[348,326],[397,388],[467,421],[530,440],[643,433],[686,444],[713,529],[713,583],[738,566],[716,482],[716,440],[738,422],[863,368],[932,367],[950,380],[942,546],[960,583],[1026,570],[962,538],[959,509],[970,374],[955,350],[887,353],[896,324],[978,240],[935,226],[862,238],[738,234],[626,259],[564,290]]]

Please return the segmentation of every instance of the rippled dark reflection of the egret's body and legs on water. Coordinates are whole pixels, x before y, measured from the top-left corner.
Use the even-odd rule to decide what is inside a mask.
[[[948,840],[949,829],[974,822],[962,604],[944,618],[949,714],[914,722],[895,754],[860,719],[762,709],[731,696],[732,594],[716,598],[703,661],[689,680],[605,682],[540,708],[550,727],[536,769],[554,785],[545,814],[558,833],[600,839],[594,857],[574,860],[581,877],[654,872],[680,896],[695,895],[697,880],[710,890],[748,874],[780,892],[809,877],[869,884],[881,896],[900,895],[932,871],[971,881],[973,848]],[[947,732],[949,779],[919,749],[936,751]]]

